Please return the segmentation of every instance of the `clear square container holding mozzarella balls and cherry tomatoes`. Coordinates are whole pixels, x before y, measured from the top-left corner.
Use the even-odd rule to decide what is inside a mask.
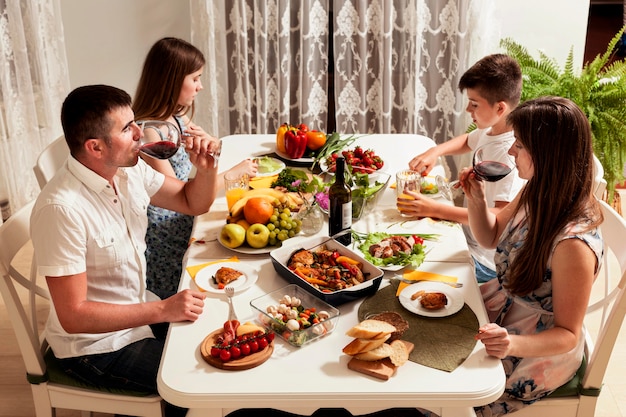
[[[281,301],[284,300],[285,296],[288,296],[290,299],[297,298],[303,311],[315,309],[317,314],[324,317],[323,321],[301,330],[290,330],[284,320],[277,319],[268,312],[272,307],[282,304]],[[266,329],[272,330],[287,343],[297,347],[330,334],[337,326],[337,321],[339,320],[339,310],[295,284],[287,285],[269,294],[255,298],[250,301],[250,306],[255,310],[259,323]]]

